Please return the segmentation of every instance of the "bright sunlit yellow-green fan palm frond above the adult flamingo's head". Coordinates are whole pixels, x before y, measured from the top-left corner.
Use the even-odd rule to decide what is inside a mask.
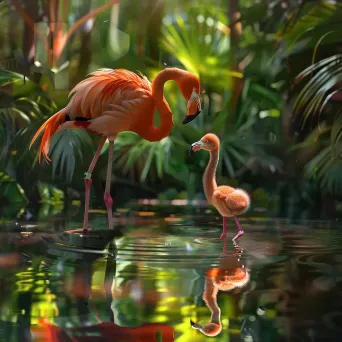
[[[204,83],[227,87],[232,77],[243,77],[229,70],[229,30],[209,10],[193,9],[187,16],[164,18],[162,48]]]

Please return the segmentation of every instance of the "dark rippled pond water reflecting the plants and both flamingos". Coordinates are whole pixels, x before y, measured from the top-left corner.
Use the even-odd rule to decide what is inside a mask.
[[[78,217],[3,224],[0,340],[206,341],[190,320],[209,322],[210,307],[221,312],[213,341],[340,340],[338,222],[242,218],[245,235],[234,246],[233,220],[224,244],[212,213],[144,209],[116,213],[113,232],[104,214],[92,214],[87,238],[75,231]],[[217,284],[228,290],[205,302],[206,283],[206,293]],[[149,323],[163,325],[120,330]]]

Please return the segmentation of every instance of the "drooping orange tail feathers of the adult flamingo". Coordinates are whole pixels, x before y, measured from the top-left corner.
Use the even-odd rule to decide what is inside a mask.
[[[38,131],[32,138],[29,148],[31,148],[32,144],[38,138],[39,134],[44,131],[43,136],[42,136],[42,141],[40,143],[40,148],[39,148],[39,157],[38,157],[39,163],[40,163],[42,154],[47,162],[51,161],[51,159],[47,155],[49,152],[49,148],[50,148],[50,141],[51,141],[52,136],[58,130],[59,125],[65,121],[66,114],[67,114],[66,109],[63,108],[56,114],[52,115],[51,118],[46,120],[40,126],[40,128],[38,129]]]

